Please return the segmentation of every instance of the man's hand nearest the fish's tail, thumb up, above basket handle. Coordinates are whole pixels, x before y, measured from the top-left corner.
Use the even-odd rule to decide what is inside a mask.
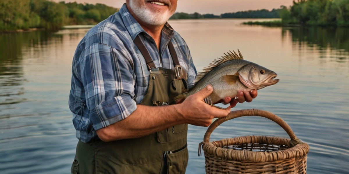
[[[208,105],[204,102],[204,98],[213,92],[212,85],[207,85],[199,92],[188,96],[182,103],[178,104],[177,111],[183,117],[186,123],[195,126],[209,126],[212,119],[221,118],[228,115],[230,107],[219,109]]]

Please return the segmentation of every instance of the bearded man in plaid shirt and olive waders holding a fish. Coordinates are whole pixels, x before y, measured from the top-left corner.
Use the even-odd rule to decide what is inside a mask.
[[[204,102],[208,85],[168,105],[196,76],[188,46],[167,23],[176,7],[177,0],[126,0],[80,41],[69,95],[79,139],[72,173],[185,173],[187,124],[209,126],[257,96],[240,91],[218,109]]]

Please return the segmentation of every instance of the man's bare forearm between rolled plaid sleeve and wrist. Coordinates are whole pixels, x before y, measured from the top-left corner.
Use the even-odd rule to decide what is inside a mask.
[[[96,131],[102,141],[132,139],[168,127],[183,124],[184,120],[177,105],[146,106],[137,105],[137,109],[126,119],[118,121]]]

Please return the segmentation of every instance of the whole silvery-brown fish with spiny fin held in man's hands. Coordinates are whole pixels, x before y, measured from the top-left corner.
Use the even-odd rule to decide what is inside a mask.
[[[244,60],[239,49],[238,53],[239,55],[235,51],[224,53],[222,58],[217,58],[203,68],[194,80],[194,87],[174,97],[174,103],[183,102],[185,98],[209,84],[213,86],[213,92],[204,101],[212,106],[225,97],[237,97],[239,90],[244,92],[259,90],[279,82],[274,71]]]

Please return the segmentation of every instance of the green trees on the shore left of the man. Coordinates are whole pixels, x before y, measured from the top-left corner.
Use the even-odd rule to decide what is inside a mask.
[[[0,32],[30,28],[58,30],[63,25],[94,25],[118,10],[101,3],[1,0]]]

